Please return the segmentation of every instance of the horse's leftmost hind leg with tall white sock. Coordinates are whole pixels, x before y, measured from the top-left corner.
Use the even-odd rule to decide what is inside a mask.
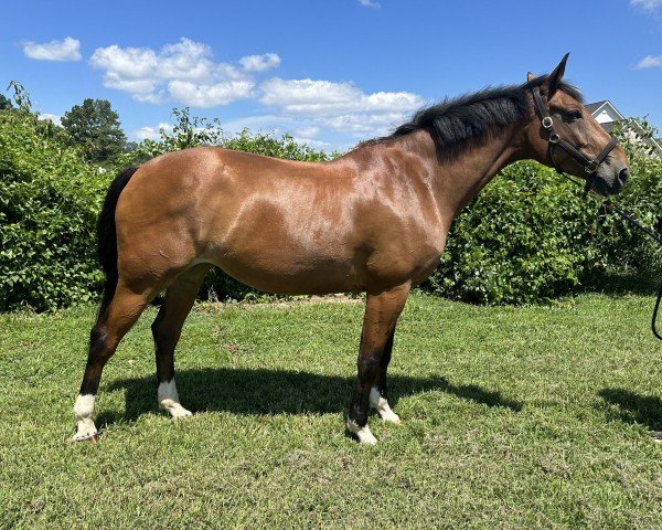
[[[120,278],[113,300],[92,328],[87,364],[74,405],[77,428],[73,441],[96,439],[97,428],[93,420],[94,402],[104,367],[115,353],[119,341],[157,293],[156,288],[130,288]]]

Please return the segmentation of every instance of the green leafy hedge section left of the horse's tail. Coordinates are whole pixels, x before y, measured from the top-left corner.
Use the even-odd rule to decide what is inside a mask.
[[[95,224],[109,176],[28,108],[0,112],[0,310],[94,298]]]

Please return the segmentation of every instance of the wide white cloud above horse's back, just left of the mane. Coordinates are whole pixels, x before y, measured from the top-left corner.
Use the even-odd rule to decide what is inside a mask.
[[[266,81],[260,102],[301,127],[331,129],[356,138],[380,136],[405,121],[426,100],[410,92],[365,94],[351,83],[313,80]],[[301,135],[308,136],[308,135]]]

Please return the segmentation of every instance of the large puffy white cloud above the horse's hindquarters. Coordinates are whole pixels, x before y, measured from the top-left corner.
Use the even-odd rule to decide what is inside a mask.
[[[171,100],[207,108],[249,97],[255,85],[236,66],[213,61],[210,46],[184,38],[159,52],[117,44],[99,47],[90,63],[104,71],[105,86],[147,103]]]

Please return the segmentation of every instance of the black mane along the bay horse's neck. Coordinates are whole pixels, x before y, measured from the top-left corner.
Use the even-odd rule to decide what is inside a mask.
[[[397,127],[389,136],[374,142],[399,138],[417,130],[426,130],[433,137],[440,160],[455,158],[468,146],[490,134],[517,121],[532,112],[531,88],[541,86],[546,75],[523,85],[487,87],[473,94],[418,110],[410,121]],[[580,92],[567,83],[559,88],[583,103]]]

